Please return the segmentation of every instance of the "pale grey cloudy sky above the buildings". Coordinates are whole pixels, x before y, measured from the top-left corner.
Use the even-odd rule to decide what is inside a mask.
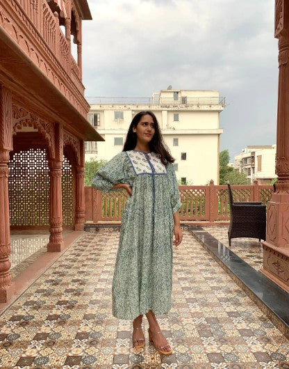
[[[149,97],[217,90],[221,150],[276,143],[278,81],[273,0],[88,0],[85,96]]]

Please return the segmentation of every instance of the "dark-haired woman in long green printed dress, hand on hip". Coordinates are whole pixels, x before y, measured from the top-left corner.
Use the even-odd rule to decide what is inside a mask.
[[[149,341],[165,355],[172,354],[172,349],[155,314],[170,311],[172,244],[178,246],[182,240],[181,202],[173,162],[156,116],[141,111],[131,122],[123,151],[92,180],[92,187],[101,191],[125,189],[129,194],[113,276],[113,315],[133,319],[133,346],[140,348],[145,346],[145,314]]]

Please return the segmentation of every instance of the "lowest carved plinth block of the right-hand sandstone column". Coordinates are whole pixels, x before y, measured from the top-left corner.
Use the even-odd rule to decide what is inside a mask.
[[[289,248],[263,244],[263,268],[260,272],[289,292]]]

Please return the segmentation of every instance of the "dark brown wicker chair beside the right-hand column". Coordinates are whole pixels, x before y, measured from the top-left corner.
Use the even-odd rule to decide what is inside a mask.
[[[231,210],[228,231],[229,246],[231,239],[238,237],[258,238],[259,242],[266,237],[266,206],[262,203],[234,203],[231,186],[229,188],[229,203]]]

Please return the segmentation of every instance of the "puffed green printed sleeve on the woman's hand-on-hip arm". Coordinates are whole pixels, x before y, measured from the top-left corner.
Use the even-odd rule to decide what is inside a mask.
[[[119,191],[120,189],[113,189],[117,183],[126,182],[126,174],[124,170],[124,163],[126,155],[124,152],[119,152],[113,159],[101,166],[99,171],[95,173],[91,185],[94,189],[99,189],[103,192]]]

